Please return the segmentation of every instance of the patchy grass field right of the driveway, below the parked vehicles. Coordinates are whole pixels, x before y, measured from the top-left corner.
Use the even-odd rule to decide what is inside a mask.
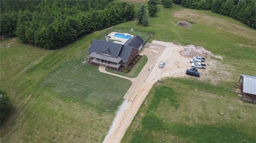
[[[253,143],[255,105],[226,84],[165,79],[151,89],[122,143]]]

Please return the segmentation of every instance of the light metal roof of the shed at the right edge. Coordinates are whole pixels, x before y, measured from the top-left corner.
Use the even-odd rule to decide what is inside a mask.
[[[256,95],[256,76],[240,75],[243,77],[243,92]]]

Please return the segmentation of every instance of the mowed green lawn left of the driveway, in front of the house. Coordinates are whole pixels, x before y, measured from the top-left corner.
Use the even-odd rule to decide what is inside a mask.
[[[83,63],[90,41],[102,32],[52,51],[16,37],[1,40],[1,89],[15,107],[1,141],[103,141],[131,81]]]

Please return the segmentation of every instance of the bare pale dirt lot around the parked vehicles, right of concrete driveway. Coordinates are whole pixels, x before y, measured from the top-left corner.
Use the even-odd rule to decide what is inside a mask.
[[[156,41],[152,41],[154,43]],[[152,45],[152,43],[148,43]],[[206,69],[198,69],[200,72],[200,80],[209,81],[212,84],[217,84],[220,80],[230,80],[231,73],[227,72],[225,69],[232,69],[229,65],[223,65],[210,57],[216,57],[222,59],[220,56],[215,56],[210,51],[204,49],[204,47],[195,45],[176,45],[174,43],[167,43],[162,41],[157,41],[157,45],[166,47],[163,54],[159,57],[158,63],[164,61],[166,65],[164,68],[160,69],[158,66],[154,67],[156,72],[150,74],[151,78],[163,79],[165,77],[185,77],[186,69],[190,69],[191,63],[190,59],[194,56],[202,56],[206,58],[204,64],[206,64]],[[197,49],[196,49],[197,47]],[[186,53],[190,49],[190,53]],[[194,50],[194,51],[193,51]],[[216,78],[214,74],[222,74],[225,76]],[[148,78],[150,78],[148,77]]]

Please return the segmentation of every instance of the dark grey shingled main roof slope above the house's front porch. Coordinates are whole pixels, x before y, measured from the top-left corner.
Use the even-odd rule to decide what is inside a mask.
[[[92,44],[91,44],[88,52],[89,53],[93,53],[93,52],[102,53],[104,51],[107,51],[110,54],[110,56],[118,57],[121,48],[122,48],[122,44],[94,39],[92,41]]]

